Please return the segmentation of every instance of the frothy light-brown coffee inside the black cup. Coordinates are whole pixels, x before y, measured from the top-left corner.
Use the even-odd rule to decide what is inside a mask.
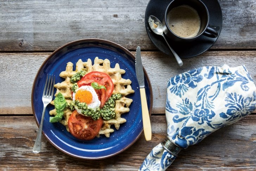
[[[201,20],[196,9],[188,5],[172,8],[167,14],[167,24],[171,31],[182,38],[197,36]]]

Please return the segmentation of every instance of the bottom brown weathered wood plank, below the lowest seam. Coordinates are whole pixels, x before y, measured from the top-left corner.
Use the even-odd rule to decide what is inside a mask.
[[[165,116],[151,116],[152,141],[143,135],[128,150],[103,160],[77,160],[43,137],[42,149],[32,152],[37,125],[32,116],[0,116],[1,170],[137,170],[151,149],[166,135]],[[256,116],[212,133],[200,144],[181,151],[168,170],[255,170]]]

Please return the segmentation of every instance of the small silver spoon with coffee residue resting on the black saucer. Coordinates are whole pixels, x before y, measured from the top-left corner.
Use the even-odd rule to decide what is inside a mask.
[[[158,18],[156,18],[155,16],[151,15],[148,18],[148,23],[149,23],[150,28],[152,29],[152,31],[155,34],[158,34],[158,35],[161,35],[162,37],[164,37],[167,45],[169,46],[170,50],[172,51],[172,53],[173,53],[175,59],[177,60],[179,66],[182,66],[183,61],[180,59],[179,55],[173,50],[173,48],[169,45],[168,41],[165,38],[162,22]]]

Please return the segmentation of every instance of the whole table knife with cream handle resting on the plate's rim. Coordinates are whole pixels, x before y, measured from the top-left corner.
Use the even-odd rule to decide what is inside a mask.
[[[146,92],[145,92],[144,72],[143,72],[143,66],[141,61],[140,46],[138,46],[136,50],[135,71],[136,71],[137,80],[140,86],[143,131],[145,134],[146,141],[149,141],[151,140],[152,133],[151,133],[151,124],[149,119],[148,105],[147,105]]]

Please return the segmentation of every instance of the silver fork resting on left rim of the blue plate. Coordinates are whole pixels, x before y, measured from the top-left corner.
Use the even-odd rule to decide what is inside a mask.
[[[41,150],[41,140],[42,140],[42,130],[43,130],[45,108],[52,101],[53,92],[54,92],[54,84],[55,84],[55,77],[50,74],[48,77],[48,74],[47,74],[45,86],[44,86],[43,97],[42,97],[42,101],[44,103],[44,109],[43,109],[43,113],[42,113],[42,117],[41,117],[39,131],[37,134],[37,139],[36,139],[36,142],[33,147],[34,153],[39,153]]]

